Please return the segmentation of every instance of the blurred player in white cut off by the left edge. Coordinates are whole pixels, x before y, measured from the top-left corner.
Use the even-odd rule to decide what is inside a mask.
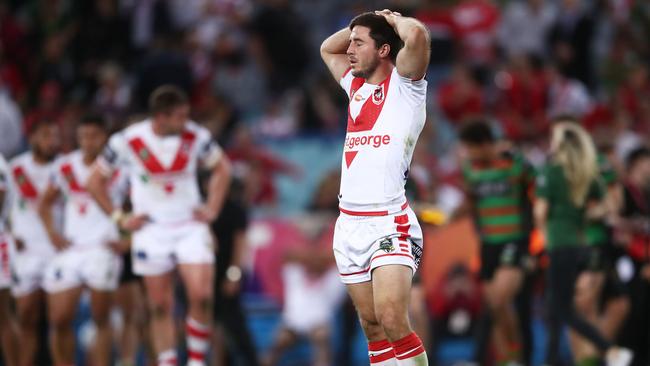
[[[18,324],[12,311],[11,256],[13,241],[8,231],[9,167],[0,154],[0,348],[7,366],[18,366]]]

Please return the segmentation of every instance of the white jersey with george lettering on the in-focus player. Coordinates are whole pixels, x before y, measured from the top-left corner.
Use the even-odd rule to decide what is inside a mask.
[[[342,212],[387,214],[406,207],[404,184],[426,119],[424,79],[413,81],[393,68],[379,85],[353,77],[340,81],[350,98],[341,161]]]

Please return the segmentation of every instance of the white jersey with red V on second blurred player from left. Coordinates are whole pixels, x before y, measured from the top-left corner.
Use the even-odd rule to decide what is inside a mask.
[[[9,163],[13,178],[10,211],[12,233],[23,242],[25,251],[32,254],[52,255],[55,251],[38,215],[38,204],[52,179],[53,169],[54,163],[36,163],[31,152],[20,154]],[[60,208],[59,205],[53,207],[55,224],[60,222]]]

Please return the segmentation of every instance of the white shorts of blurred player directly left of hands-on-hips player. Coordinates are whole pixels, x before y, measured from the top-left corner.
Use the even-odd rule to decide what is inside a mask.
[[[43,289],[57,293],[87,286],[98,291],[114,291],[122,270],[122,258],[105,246],[71,247],[50,261]]]

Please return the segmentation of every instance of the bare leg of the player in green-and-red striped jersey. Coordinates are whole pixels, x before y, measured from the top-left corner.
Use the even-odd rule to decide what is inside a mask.
[[[514,309],[514,299],[523,282],[523,273],[518,268],[503,267],[495,273],[486,287],[486,300],[494,319],[494,345],[503,361],[518,360],[518,346],[521,337]],[[514,353],[514,355],[513,355]],[[514,356],[514,357],[513,357]]]

